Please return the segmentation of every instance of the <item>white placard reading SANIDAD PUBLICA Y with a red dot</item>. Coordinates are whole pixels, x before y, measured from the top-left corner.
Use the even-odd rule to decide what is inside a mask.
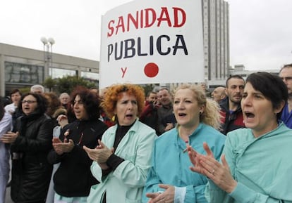
[[[201,0],[131,1],[102,16],[99,88],[204,81]]]

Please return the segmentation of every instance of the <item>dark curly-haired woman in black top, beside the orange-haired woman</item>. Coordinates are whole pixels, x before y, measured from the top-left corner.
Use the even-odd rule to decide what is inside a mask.
[[[86,202],[90,187],[97,180],[90,172],[92,160],[83,146],[95,148],[107,129],[107,125],[99,120],[100,100],[97,94],[78,87],[71,95],[76,120],[68,124],[66,116],[58,118],[59,124],[67,124],[61,129],[60,137],[53,138],[54,150],[48,156],[51,164],[60,163],[54,174],[55,203]]]

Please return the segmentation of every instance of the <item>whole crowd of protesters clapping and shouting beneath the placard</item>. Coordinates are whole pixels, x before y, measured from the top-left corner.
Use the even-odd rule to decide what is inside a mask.
[[[210,95],[14,89],[0,100],[0,203],[292,202],[292,64]]]

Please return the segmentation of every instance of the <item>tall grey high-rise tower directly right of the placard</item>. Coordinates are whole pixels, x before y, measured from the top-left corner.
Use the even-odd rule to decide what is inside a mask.
[[[212,87],[229,77],[229,4],[202,0],[205,82]]]

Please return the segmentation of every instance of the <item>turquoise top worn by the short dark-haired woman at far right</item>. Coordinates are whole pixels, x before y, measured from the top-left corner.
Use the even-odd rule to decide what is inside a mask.
[[[292,202],[292,130],[283,123],[259,138],[251,129],[227,134],[224,154],[235,190],[227,194],[212,181],[206,198],[212,203],[279,203]]]

